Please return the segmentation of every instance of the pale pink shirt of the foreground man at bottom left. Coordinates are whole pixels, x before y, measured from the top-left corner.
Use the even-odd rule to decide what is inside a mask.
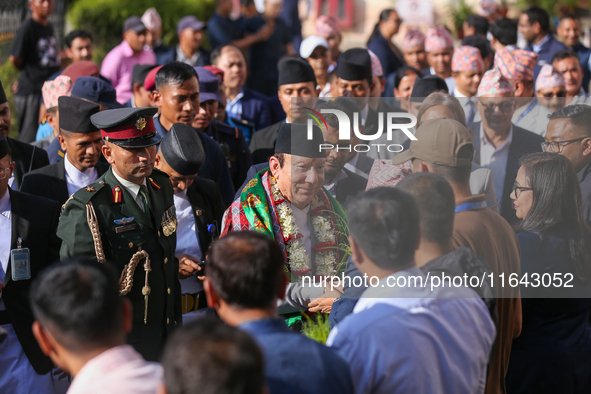
[[[84,364],[67,394],[155,394],[162,376],[160,364],[130,345],[116,346]]]

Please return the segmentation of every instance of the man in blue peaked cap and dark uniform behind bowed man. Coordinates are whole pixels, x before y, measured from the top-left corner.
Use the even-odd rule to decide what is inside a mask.
[[[236,189],[242,185],[246,179],[246,173],[252,165],[248,144],[241,129],[215,119],[219,103],[225,105],[220,96],[218,77],[203,67],[195,67],[195,71],[199,77],[200,108],[193,121],[193,127],[220,144],[224,155],[226,155],[232,183]]]

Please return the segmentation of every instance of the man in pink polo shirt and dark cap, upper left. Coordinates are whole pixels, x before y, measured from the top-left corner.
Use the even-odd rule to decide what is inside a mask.
[[[156,55],[145,45],[146,26],[139,16],[130,16],[123,22],[123,42],[113,48],[103,60],[101,75],[111,81],[117,90],[117,101],[121,104],[125,104],[133,96],[133,66],[156,64]]]

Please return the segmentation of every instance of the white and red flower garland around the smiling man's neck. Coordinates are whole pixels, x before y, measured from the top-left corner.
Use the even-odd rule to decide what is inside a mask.
[[[277,208],[279,224],[281,225],[281,234],[285,241],[289,267],[292,274],[297,278],[307,276],[312,271],[310,258],[306,252],[306,247],[302,242],[303,235],[300,233],[291,207],[287,200],[279,191],[277,182],[270,177],[271,193]],[[337,271],[337,234],[334,222],[330,216],[330,211],[326,203],[316,195],[312,199],[310,206],[312,216],[312,231],[318,241],[318,244],[312,248],[314,263],[316,265],[316,275],[331,276]],[[328,215],[327,215],[328,214]]]

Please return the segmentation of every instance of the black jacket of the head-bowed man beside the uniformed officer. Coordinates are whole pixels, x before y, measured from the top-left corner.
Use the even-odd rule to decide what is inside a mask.
[[[195,178],[193,184],[187,189],[187,199],[193,208],[193,217],[199,238],[199,247],[203,256],[212,241],[217,238],[222,225],[224,215],[224,200],[218,185],[209,179]],[[208,226],[215,225],[210,232]]]

